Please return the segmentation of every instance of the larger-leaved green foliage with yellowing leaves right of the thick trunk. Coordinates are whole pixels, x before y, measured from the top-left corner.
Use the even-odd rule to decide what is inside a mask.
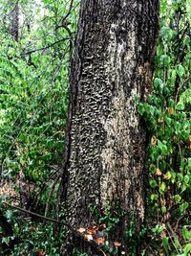
[[[147,221],[156,255],[191,251],[190,6],[161,3],[153,92],[138,105],[150,136]]]

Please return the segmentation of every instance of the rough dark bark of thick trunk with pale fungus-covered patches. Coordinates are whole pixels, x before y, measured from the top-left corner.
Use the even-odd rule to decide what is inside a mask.
[[[75,228],[96,221],[90,205],[123,213],[113,236],[126,255],[130,216],[138,230],[145,213],[146,132],[135,97],[150,91],[158,28],[159,0],[81,1],[61,201]],[[78,243],[68,231],[62,255]]]

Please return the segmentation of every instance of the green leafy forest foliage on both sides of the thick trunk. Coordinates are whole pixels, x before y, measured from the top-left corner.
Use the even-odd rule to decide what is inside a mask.
[[[10,30],[16,3],[0,1],[0,251],[59,255],[63,237],[54,238],[53,221],[10,203],[55,218],[78,1],[19,1],[17,41]],[[190,24],[190,0],[161,1],[153,92],[138,103],[150,138],[147,220],[136,235],[142,255],[191,252]],[[109,231],[119,217],[107,209],[98,221]],[[127,230],[132,255],[138,246],[135,233],[132,221]],[[80,252],[74,249],[74,254]]]

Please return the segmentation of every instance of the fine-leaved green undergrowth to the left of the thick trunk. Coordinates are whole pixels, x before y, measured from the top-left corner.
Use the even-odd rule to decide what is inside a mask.
[[[63,164],[77,2],[19,1],[18,41],[10,30],[16,3],[0,3],[0,196],[51,217]],[[68,26],[62,24],[67,21]],[[23,214],[1,207],[13,228],[10,238],[0,227],[3,244],[17,236],[21,240],[12,255],[39,248],[56,255],[53,223],[21,221]]]

